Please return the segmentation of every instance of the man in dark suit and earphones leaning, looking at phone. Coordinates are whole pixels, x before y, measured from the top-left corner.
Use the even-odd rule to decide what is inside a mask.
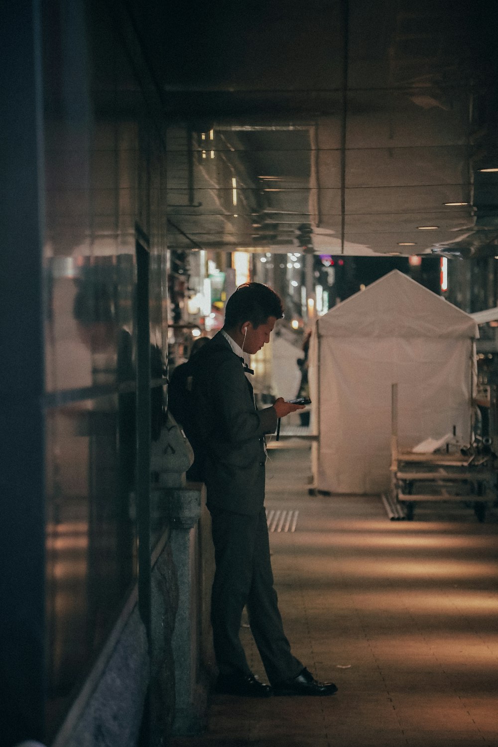
[[[270,340],[283,316],[281,300],[260,283],[240,285],[228,299],[225,326],[192,359],[196,462],[211,512],[216,571],[211,598],[217,691],[231,695],[332,695],[290,651],[273,589],[264,509],[264,436],[278,418],[302,406],[282,397],[255,406],[249,355]],[[187,434],[188,435],[188,434]],[[252,675],[240,642],[243,608],[271,687]]]

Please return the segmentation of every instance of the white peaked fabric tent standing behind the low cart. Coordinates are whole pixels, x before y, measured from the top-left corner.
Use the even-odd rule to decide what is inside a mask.
[[[477,337],[475,320],[399,270],[320,317],[310,354],[317,489],[389,488],[393,383],[400,449],[453,426],[468,443]]]

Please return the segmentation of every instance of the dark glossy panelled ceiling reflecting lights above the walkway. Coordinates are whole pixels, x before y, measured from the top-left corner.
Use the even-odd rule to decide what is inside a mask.
[[[170,248],[498,253],[496,1],[134,13],[164,91]]]

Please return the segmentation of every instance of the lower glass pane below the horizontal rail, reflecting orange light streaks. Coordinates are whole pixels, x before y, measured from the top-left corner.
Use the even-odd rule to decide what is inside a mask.
[[[133,408],[134,394],[123,393],[48,412],[52,719],[96,657],[137,575]]]

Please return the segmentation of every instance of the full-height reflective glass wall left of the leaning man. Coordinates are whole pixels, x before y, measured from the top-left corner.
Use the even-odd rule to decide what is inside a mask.
[[[43,6],[49,734],[137,581],[138,235],[156,431],[166,365],[157,92],[112,7]]]

